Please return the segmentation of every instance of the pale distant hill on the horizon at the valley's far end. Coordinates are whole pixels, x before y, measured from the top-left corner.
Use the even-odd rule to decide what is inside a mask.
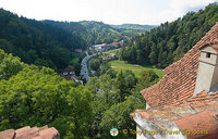
[[[122,24],[122,25],[110,25],[113,28],[119,28],[119,29],[129,29],[129,30],[141,30],[141,31],[146,31],[150,30],[157,26],[155,25],[140,25],[140,24]]]

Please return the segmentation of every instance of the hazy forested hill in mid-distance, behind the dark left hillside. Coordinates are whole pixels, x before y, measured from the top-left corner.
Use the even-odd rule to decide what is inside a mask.
[[[55,22],[43,21],[44,24],[62,28],[73,35],[80,35],[88,46],[96,43],[110,43],[124,39],[124,36],[111,26],[102,22]]]

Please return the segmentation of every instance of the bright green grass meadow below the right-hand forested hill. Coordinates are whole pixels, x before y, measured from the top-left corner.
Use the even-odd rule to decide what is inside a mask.
[[[111,67],[117,71],[117,72],[124,72],[124,71],[132,71],[135,76],[138,78],[140,77],[140,73],[142,71],[146,71],[146,70],[152,70],[154,71],[159,78],[162,78],[165,73],[162,72],[162,70],[160,68],[156,68],[155,66],[141,66],[141,65],[133,65],[133,64],[128,64],[124,61],[110,61],[109,64],[111,65]]]

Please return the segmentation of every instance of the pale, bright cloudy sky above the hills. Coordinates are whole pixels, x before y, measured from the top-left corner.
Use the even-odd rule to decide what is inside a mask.
[[[159,25],[218,0],[0,0],[0,8],[35,20]]]

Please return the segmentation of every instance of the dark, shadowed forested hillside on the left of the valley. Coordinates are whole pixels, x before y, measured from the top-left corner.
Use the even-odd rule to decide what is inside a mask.
[[[85,40],[75,34],[19,17],[3,9],[0,9],[0,49],[28,64],[60,70],[70,62],[69,50],[87,47]]]

